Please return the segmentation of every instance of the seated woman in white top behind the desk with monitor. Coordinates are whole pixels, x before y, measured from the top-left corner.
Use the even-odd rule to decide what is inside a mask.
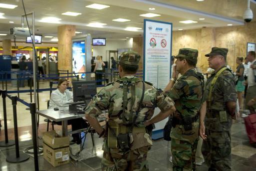
[[[53,109],[55,107],[65,107],[68,106],[68,103],[73,102],[73,93],[67,90],[68,81],[65,78],[61,78],[58,81],[57,89],[51,93],[49,109]],[[56,122],[58,125],[61,125],[61,122]],[[67,122],[68,125],[71,124],[72,131],[79,130],[82,128],[87,128],[88,124],[82,119],[71,119]],[[72,134],[73,142],[76,144],[81,143],[81,139],[78,133]]]

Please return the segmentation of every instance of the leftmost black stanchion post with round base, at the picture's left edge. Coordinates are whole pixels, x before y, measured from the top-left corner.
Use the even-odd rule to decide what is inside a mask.
[[[7,129],[7,117],[6,117],[6,90],[0,90],[2,95],[2,109],[3,109],[3,124],[4,124],[4,136],[5,141],[0,142],[0,147],[13,146],[15,143],[13,140],[8,140],[8,129]]]

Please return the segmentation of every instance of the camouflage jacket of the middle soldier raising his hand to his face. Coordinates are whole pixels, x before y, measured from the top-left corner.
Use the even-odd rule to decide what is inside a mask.
[[[203,96],[203,85],[201,81],[192,75],[199,74],[194,69],[184,73],[174,84],[174,87],[167,92],[167,95],[175,102],[175,118],[182,119],[186,116],[195,117],[201,107]],[[203,76],[203,75],[201,75]],[[194,142],[198,138],[199,122],[192,124],[193,129],[185,131],[183,125],[176,125],[172,129],[171,138],[183,141]]]

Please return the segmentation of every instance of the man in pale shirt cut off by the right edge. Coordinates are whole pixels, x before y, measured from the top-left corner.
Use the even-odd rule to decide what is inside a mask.
[[[256,96],[256,59],[255,59],[255,51],[248,52],[247,59],[252,64],[248,69],[248,78],[247,78],[247,96],[246,96],[246,109],[250,109],[248,106],[248,102],[252,100]],[[256,105],[253,106],[256,108]]]

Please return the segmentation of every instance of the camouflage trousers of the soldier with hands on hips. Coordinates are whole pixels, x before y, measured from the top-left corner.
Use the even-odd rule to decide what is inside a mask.
[[[113,149],[113,151],[111,150],[112,152],[109,153],[104,151],[101,161],[102,171],[148,171],[147,146],[130,151],[126,154],[122,154],[118,151],[115,152],[115,150],[116,149]]]

